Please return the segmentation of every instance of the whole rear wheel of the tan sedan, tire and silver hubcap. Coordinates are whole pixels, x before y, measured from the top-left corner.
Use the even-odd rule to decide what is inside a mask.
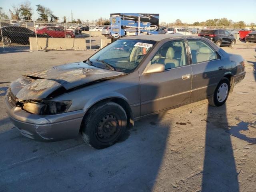
[[[222,78],[216,87],[214,94],[208,98],[208,103],[211,106],[222,106],[228,99],[230,91],[230,81],[227,78]]]

